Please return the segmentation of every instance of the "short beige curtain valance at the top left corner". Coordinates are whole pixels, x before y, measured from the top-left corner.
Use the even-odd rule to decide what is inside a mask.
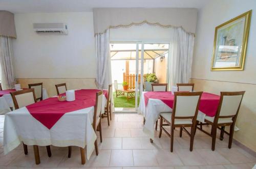
[[[8,11],[0,11],[0,36],[16,38],[13,13]]]

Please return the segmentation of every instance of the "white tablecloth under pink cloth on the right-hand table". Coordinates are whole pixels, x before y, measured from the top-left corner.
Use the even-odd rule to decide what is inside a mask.
[[[172,112],[173,109],[167,106],[164,102],[159,99],[148,99],[147,105],[145,106],[144,93],[140,96],[140,104],[138,108],[138,114],[142,114],[145,118],[145,125],[143,127],[143,132],[154,139],[155,123],[159,118],[161,112]],[[204,122],[205,114],[198,111],[197,120]]]

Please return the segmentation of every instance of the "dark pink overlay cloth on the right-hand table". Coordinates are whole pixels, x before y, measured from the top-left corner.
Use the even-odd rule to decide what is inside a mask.
[[[164,102],[170,108],[173,108],[174,95],[172,92],[146,92],[144,93],[145,105],[148,99],[159,99]],[[204,92],[201,96],[199,110],[210,117],[216,115],[218,105],[220,101],[220,96]]]

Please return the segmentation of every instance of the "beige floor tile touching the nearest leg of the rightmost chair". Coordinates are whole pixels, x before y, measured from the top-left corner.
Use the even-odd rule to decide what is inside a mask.
[[[194,150],[207,162],[208,165],[230,164],[230,162],[217,151],[211,149]]]

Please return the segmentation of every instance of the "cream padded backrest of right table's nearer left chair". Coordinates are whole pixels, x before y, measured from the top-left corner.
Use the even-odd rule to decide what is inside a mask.
[[[195,116],[198,96],[177,96],[175,117],[191,117]]]

